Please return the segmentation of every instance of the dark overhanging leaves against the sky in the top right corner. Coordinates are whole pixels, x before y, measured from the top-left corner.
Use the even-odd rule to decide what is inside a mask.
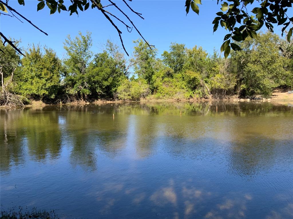
[[[241,50],[238,44],[232,42],[243,41],[248,36],[253,39],[257,38],[257,31],[265,26],[270,32],[274,32],[274,24],[282,25],[282,36],[287,27],[293,24],[293,17],[288,17],[287,10],[292,7],[292,0],[283,1],[257,1],[258,7],[252,9],[252,14],[248,13],[248,4],[253,4],[254,0],[234,0],[223,1],[221,4],[221,11],[217,12],[217,17],[212,22],[214,24],[214,32],[218,29],[219,24],[230,32],[224,37],[224,43],[221,46],[221,52],[224,51],[225,58],[228,57],[231,48],[234,51]],[[229,4],[231,2],[232,4]],[[190,7],[199,14],[199,4],[201,0],[186,0],[186,14],[188,14]],[[219,0],[217,1],[219,4]],[[226,12],[226,13],[225,13]],[[287,34],[287,40],[290,42],[293,27],[291,27]]]

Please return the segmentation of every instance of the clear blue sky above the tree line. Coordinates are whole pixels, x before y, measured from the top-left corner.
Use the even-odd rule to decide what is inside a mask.
[[[66,1],[68,0],[65,0],[64,4],[68,5],[69,2]],[[221,7],[217,5],[217,1],[203,0],[199,16],[191,10],[185,16],[185,1],[134,0],[129,2],[134,11],[142,13],[145,20],[132,13],[122,1],[115,2],[130,15],[144,38],[150,44],[156,46],[159,50],[159,56],[164,50],[169,49],[171,42],[184,43],[187,47],[202,46],[208,53],[212,53],[213,48],[219,50],[224,35],[228,34],[228,31],[220,26],[217,32],[213,34],[212,21],[216,16],[215,13],[220,11]],[[75,36],[79,31],[85,34],[87,30],[92,32],[92,50],[94,53],[102,50],[101,45],[107,39],[111,39],[119,46],[121,45],[115,28],[96,8],[91,9],[90,7],[87,11],[80,12],[78,17],[76,14],[69,16],[69,12],[66,11],[50,15],[47,6],[37,12],[38,1],[36,0],[25,0],[25,6],[20,6],[16,0],[10,0],[9,4],[49,34],[49,36],[46,36],[25,20],[23,20],[24,23],[21,23],[16,18],[1,15],[1,32],[15,39],[21,38],[22,46],[31,43],[47,45],[53,48],[57,55],[62,58],[65,54],[63,41],[67,34]],[[102,1],[102,4],[107,5],[108,1]],[[115,15],[120,15],[119,18],[123,18],[123,15],[114,7],[107,7],[107,10],[115,13]],[[292,15],[292,10],[289,14]],[[126,19],[123,20],[126,21]],[[122,31],[122,38],[127,51],[132,53],[134,46],[132,41],[138,39],[139,34],[134,29],[131,33],[128,33],[126,28],[120,25],[118,21],[115,23],[119,25]],[[281,27],[275,27],[275,32],[280,33],[280,29]],[[263,30],[266,31],[266,28],[264,27]]]

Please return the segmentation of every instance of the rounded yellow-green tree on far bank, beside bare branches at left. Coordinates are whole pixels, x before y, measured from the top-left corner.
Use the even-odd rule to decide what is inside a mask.
[[[61,71],[61,61],[55,51],[33,44],[21,59],[13,90],[37,100],[55,98],[60,86]]]

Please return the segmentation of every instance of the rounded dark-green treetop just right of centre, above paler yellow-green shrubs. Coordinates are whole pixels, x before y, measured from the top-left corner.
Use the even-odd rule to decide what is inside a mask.
[[[182,71],[185,59],[185,44],[171,43],[170,52],[162,54],[163,63],[174,70],[174,73]]]

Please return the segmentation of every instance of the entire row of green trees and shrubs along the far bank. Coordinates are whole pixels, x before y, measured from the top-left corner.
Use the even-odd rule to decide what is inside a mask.
[[[234,43],[241,50],[231,51],[226,59],[217,51],[208,54],[202,47],[178,43],[160,55],[141,39],[134,41],[131,58],[110,40],[103,52],[93,54],[90,32],[67,36],[64,59],[47,46],[32,44],[20,56],[1,43],[1,105],[28,100],[269,97],[277,87],[293,87],[292,42],[266,32]]]

